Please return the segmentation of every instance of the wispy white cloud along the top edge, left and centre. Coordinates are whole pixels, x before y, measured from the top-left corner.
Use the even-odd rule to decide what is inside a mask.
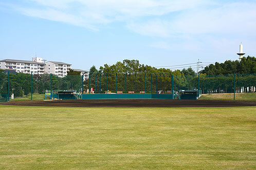
[[[191,9],[206,1],[208,0],[24,0],[25,3],[16,9],[28,16],[96,29],[102,24],[131,23],[145,16],[159,17]]]

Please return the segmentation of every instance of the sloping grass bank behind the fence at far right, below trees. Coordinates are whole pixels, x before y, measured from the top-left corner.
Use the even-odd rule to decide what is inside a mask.
[[[203,94],[201,100],[233,100],[233,93],[215,93]],[[235,93],[235,100],[251,100],[256,101],[256,93]]]

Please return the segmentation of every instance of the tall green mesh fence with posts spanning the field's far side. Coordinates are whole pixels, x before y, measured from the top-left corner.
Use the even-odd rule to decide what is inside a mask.
[[[198,91],[197,98],[200,94],[233,93],[235,99],[236,93],[254,93],[255,87],[256,74],[89,73],[86,76],[58,77],[52,74],[12,74],[0,71],[2,101],[10,100],[11,94],[14,94],[14,98],[26,96],[33,100],[33,93],[45,92],[51,92],[50,98],[58,98],[60,91],[75,91],[74,99],[178,99],[182,90]]]

